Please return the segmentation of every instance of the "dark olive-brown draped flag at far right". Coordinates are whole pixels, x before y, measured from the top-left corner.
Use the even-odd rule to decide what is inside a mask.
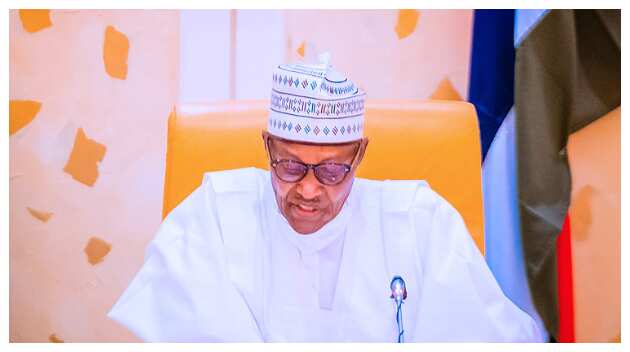
[[[556,339],[563,325],[558,321],[558,293],[569,292],[558,284],[569,284],[562,277],[571,269],[559,262],[566,254],[570,259],[570,251],[556,243],[565,221],[570,239],[567,140],[570,133],[620,105],[620,38],[619,10],[551,10],[516,47],[514,109],[523,252],[534,305]],[[563,331],[568,332],[563,338],[571,337],[570,330]]]

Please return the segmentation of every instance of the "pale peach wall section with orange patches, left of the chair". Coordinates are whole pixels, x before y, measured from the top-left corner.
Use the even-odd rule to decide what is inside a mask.
[[[161,221],[179,11],[9,19],[10,341],[138,341],[105,314]]]

